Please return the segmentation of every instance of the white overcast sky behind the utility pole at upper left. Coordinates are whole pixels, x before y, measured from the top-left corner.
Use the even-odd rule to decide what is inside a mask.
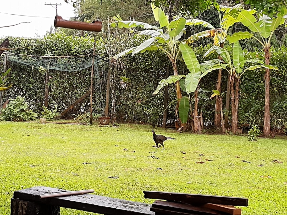
[[[71,3],[71,1],[69,1]],[[58,15],[63,19],[69,20],[74,17],[74,8],[71,4],[65,3],[64,0],[2,0],[0,7],[0,27],[23,23],[20,25],[0,28],[0,37],[19,36],[19,37],[36,37],[43,36],[46,31],[50,31],[51,25],[54,27],[54,19],[56,15],[55,6],[46,4],[61,4],[58,6]],[[17,16],[4,13],[11,13]],[[28,16],[44,16],[50,18],[28,17]]]

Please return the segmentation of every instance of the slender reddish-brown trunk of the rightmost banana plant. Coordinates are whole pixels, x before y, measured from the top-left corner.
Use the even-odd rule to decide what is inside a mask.
[[[265,64],[270,64],[270,46],[264,49]],[[265,69],[265,105],[264,105],[264,136],[270,135],[270,70]]]

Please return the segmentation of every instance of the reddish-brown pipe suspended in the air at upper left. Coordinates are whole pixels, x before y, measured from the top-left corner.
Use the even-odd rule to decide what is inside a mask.
[[[56,28],[62,27],[76,30],[94,31],[94,32],[100,32],[102,30],[101,21],[93,21],[92,23],[80,22],[80,21],[68,21],[58,15],[55,17],[54,26]]]

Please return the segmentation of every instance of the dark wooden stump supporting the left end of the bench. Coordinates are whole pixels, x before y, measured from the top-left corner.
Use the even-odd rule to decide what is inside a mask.
[[[60,215],[60,208],[46,204],[11,199],[11,215]]]

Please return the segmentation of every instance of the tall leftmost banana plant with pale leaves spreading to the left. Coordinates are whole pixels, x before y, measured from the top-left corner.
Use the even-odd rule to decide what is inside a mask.
[[[164,52],[169,60],[172,63],[173,67],[173,73],[174,77],[178,76],[178,70],[177,70],[177,58],[179,56],[179,53],[181,52],[181,49],[178,49],[179,40],[181,39],[183,33],[185,32],[185,26],[188,25],[208,25],[207,22],[199,20],[199,19],[185,19],[181,16],[175,17],[171,22],[168,20],[168,16],[164,13],[164,11],[159,8],[155,7],[153,4],[152,11],[154,14],[155,21],[158,21],[160,24],[160,27],[158,26],[152,26],[147,23],[138,22],[138,21],[123,21],[119,15],[114,17],[115,22],[111,23],[110,26],[112,27],[119,27],[119,28],[134,28],[134,27],[140,27],[144,28],[145,30],[139,31],[138,35],[146,35],[150,36],[146,41],[141,43],[139,46],[134,46],[132,48],[129,48],[115,56],[113,58],[118,59],[121,56],[124,56],[126,54],[130,54],[133,56],[137,53],[143,53],[147,50],[153,51],[153,50],[161,50]],[[188,55],[189,52],[185,52],[183,55]],[[190,56],[187,56],[190,58]],[[165,86],[166,84],[174,83],[177,93],[177,99],[179,106],[179,100],[181,99],[181,88],[179,85],[179,79],[174,77],[168,78],[165,82],[160,82],[159,85]],[[183,76],[182,76],[183,77]],[[189,79],[191,77],[188,77]],[[159,91],[159,90],[158,90]],[[156,92],[156,91],[155,91]],[[156,93],[154,93],[156,94]],[[177,110],[176,110],[177,115]]]

